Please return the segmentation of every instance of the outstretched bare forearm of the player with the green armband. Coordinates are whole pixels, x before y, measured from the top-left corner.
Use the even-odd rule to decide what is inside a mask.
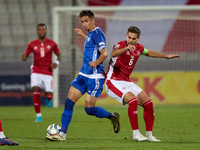
[[[145,55],[154,58],[166,58],[166,59],[180,58],[180,55],[177,54],[163,54],[153,50],[147,50]]]

